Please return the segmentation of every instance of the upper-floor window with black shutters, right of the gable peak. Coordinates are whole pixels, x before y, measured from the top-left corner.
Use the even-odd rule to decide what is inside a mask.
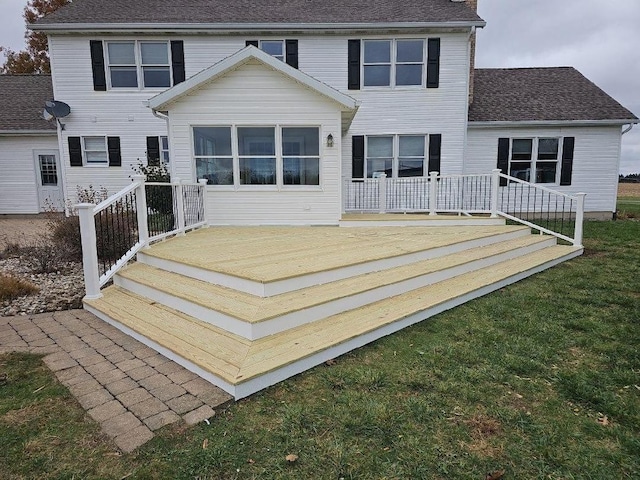
[[[363,85],[422,86],[424,43],[423,39],[363,40]]]

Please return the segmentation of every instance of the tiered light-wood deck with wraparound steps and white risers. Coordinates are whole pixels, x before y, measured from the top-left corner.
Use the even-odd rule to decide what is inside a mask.
[[[85,307],[242,398],[582,253],[487,220],[202,229]]]

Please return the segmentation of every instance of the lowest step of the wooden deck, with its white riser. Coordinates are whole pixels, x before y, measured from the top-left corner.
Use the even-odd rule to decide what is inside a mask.
[[[118,286],[86,300],[85,307],[242,398],[581,253],[577,247],[547,247],[253,341]]]

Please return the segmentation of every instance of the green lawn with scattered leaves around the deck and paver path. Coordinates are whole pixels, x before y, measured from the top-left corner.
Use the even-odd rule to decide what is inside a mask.
[[[4,357],[0,478],[637,478],[640,222],[587,222],[585,246],[122,457],[37,358]]]

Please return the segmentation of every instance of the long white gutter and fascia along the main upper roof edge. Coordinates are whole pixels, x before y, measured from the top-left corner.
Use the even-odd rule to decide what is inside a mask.
[[[424,28],[483,28],[487,22],[388,22],[388,23],[48,23],[29,24],[27,28],[35,32],[118,32],[118,33],[168,33],[168,32],[208,32],[244,33],[256,31],[354,31]]]

